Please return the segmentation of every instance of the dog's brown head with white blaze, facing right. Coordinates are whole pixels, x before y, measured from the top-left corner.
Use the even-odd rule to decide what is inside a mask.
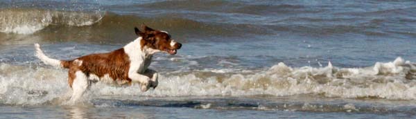
[[[146,47],[151,48],[152,50],[175,55],[177,50],[182,46],[182,44],[171,39],[171,35],[169,35],[166,31],[154,30],[146,25],[141,25],[141,29],[143,31],[140,31],[139,28],[135,27],[136,35],[142,37],[140,42],[142,50]]]

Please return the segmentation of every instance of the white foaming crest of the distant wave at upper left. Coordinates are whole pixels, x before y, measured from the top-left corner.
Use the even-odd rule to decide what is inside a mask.
[[[0,10],[0,32],[31,34],[47,26],[90,26],[100,21],[104,14],[43,10],[35,8],[9,8]]]

